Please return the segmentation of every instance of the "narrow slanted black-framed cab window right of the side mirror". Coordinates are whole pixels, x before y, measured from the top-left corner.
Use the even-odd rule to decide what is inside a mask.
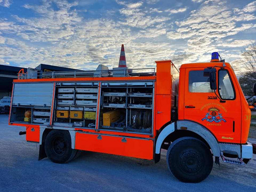
[[[218,76],[219,76],[218,90],[221,98],[225,100],[234,99],[235,93],[233,89],[233,84],[227,70],[219,70]]]

